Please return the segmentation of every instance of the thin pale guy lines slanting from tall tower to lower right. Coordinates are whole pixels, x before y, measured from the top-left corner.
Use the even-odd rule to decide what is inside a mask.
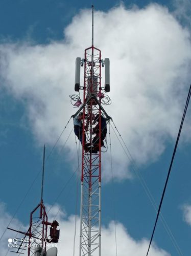
[[[113,120],[112,120],[112,122],[113,122]],[[113,124],[114,124],[114,122],[113,122]],[[112,125],[111,125],[111,127],[112,127]],[[117,127],[116,127],[115,124],[114,124],[114,127],[115,127],[115,129],[116,129],[118,135],[120,136],[120,138],[121,138],[121,140],[122,140],[122,142],[123,142],[123,144],[124,144],[125,147],[122,145],[120,139],[117,137],[117,134],[115,133],[115,131],[114,131],[113,127],[112,127],[112,130],[113,130],[115,136],[117,137],[118,141],[120,142],[120,144],[121,144],[121,146],[122,146],[122,148],[123,148],[123,150],[124,150],[126,156],[128,157],[129,161],[132,163],[132,169],[133,169],[134,173],[136,174],[137,178],[139,179],[139,181],[140,181],[140,183],[141,183],[141,185],[142,185],[142,188],[144,188],[146,195],[148,196],[148,198],[149,198],[149,200],[150,200],[152,206],[154,207],[155,211],[157,212],[158,206],[157,206],[157,204],[156,204],[156,202],[155,202],[155,199],[153,198],[153,196],[152,196],[152,194],[151,194],[151,191],[150,191],[150,189],[149,189],[149,187],[148,187],[148,185],[147,185],[145,179],[142,177],[141,173],[138,172],[138,167],[136,166],[135,160],[133,159],[133,157],[132,157],[132,155],[131,155],[131,153],[130,153],[130,151],[129,151],[129,148],[127,147],[127,145],[126,145],[126,143],[125,143],[125,141],[124,141],[122,135],[121,135],[120,132],[118,131],[118,129],[117,129]],[[128,154],[127,154],[125,148],[127,149]],[[174,245],[174,247],[175,247],[177,253],[178,253],[180,256],[183,255],[183,253],[182,253],[182,251],[181,251],[181,249],[180,249],[180,247],[179,247],[179,245],[178,245],[178,243],[177,243],[175,237],[173,236],[173,233],[172,233],[171,229],[169,228],[168,224],[166,223],[166,221],[165,221],[165,219],[164,219],[162,213],[161,213],[161,215],[160,215],[160,220],[161,220],[161,222],[162,222],[162,224],[163,224],[164,229],[165,229],[166,232],[168,233],[168,235],[169,235],[169,237],[170,237],[170,239],[171,239],[171,241],[172,241],[172,243],[173,243],[173,245]]]

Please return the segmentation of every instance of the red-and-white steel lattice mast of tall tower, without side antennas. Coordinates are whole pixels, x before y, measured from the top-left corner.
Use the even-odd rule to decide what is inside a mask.
[[[85,50],[83,147],[81,176],[80,256],[101,255],[101,51],[93,45]],[[93,145],[94,118],[99,115],[99,151],[85,152],[85,144]],[[98,252],[97,252],[98,251]]]

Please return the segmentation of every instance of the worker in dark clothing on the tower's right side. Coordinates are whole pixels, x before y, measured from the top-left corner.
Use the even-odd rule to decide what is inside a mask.
[[[93,124],[96,124],[96,122],[98,122],[98,124],[93,128],[93,133],[96,134],[95,137],[93,137],[92,139],[92,143],[93,143],[93,148],[92,148],[92,153],[98,153],[99,151],[99,132],[100,132],[100,123],[99,123],[99,114],[96,115]],[[106,137],[107,134],[107,123],[106,123],[106,119],[101,115],[101,146],[104,146],[104,139]]]

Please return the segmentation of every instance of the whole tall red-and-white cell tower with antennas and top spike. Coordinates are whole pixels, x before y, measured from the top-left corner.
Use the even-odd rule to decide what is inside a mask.
[[[101,50],[93,45],[93,6],[91,42],[91,47],[85,49],[84,59],[76,58],[75,91],[84,92],[83,104],[73,115],[75,118],[83,112],[80,256],[101,255],[101,147],[107,133],[103,119],[111,119],[102,106],[104,99],[109,98],[105,95],[110,91],[109,59],[103,60]],[[80,86],[80,68],[83,66],[84,83]],[[102,87],[101,69],[104,66],[105,86]]]

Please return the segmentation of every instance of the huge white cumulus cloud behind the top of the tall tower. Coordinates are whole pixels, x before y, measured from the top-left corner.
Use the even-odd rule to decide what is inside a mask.
[[[64,30],[62,41],[48,45],[2,44],[2,86],[23,100],[32,132],[39,143],[53,144],[76,111],[75,59],[91,44],[91,12],[81,10]],[[168,9],[153,4],[144,9],[123,5],[95,12],[94,45],[111,63],[112,105],[106,111],[125,139],[137,164],[156,161],[166,142],[175,139],[184,108],[191,60],[190,33]],[[83,70],[82,70],[83,72]],[[68,126],[61,143],[65,141]],[[190,141],[190,122],[184,139]],[[74,154],[70,138],[68,156]],[[130,162],[112,134],[114,178],[130,178]],[[103,154],[103,177],[110,179],[109,153]]]

